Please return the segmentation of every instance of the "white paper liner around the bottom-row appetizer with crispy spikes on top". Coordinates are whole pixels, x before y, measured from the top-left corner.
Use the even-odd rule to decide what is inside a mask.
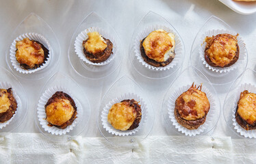
[[[209,92],[209,90],[206,87],[202,86],[202,92],[205,92],[210,103],[210,109],[209,109],[209,112],[207,113],[205,123],[199,126],[199,128],[193,129],[193,130],[189,130],[188,128],[181,126],[181,124],[179,124],[175,118],[175,101],[181,94],[183,94],[183,92],[188,91],[191,85],[192,84],[179,87],[177,90],[175,90],[175,92],[173,92],[173,94],[168,99],[167,106],[168,106],[168,114],[169,114],[170,121],[175,126],[175,128],[177,128],[178,131],[180,131],[185,135],[195,136],[195,135],[199,135],[200,133],[203,133],[203,131],[211,127],[211,125],[214,122],[214,116],[216,116],[216,105],[215,105],[214,96],[212,95],[212,93]]]

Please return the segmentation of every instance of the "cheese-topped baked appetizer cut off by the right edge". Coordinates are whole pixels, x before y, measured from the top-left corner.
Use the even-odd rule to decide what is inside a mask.
[[[235,120],[246,131],[256,129],[256,94],[248,90],[240,94]]]

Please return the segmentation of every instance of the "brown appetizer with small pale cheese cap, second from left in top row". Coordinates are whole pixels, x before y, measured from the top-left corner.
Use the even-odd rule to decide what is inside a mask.
[[[87,33],[88,39],[83,41],[84,54],[93,63],[107,60],[112,54],[113,44],[98,32]]]

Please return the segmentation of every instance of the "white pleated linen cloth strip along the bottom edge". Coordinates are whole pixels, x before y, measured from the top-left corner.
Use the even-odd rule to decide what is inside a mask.
[[[0,163],[255,163],[255,139],[151,136],[134,148],[102,137],[55,142],[40,133],[2,133]]]

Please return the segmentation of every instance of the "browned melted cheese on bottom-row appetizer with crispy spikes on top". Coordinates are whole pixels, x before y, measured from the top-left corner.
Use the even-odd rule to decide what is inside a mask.
[[[178,109],[179,115],[185,120],[198,120],[205,116],[209,110],[209,100],[201,90],[197,90],[196,87],[190,87],[187,92],[181,94],[184,104],[179,104],[182,109]]]

